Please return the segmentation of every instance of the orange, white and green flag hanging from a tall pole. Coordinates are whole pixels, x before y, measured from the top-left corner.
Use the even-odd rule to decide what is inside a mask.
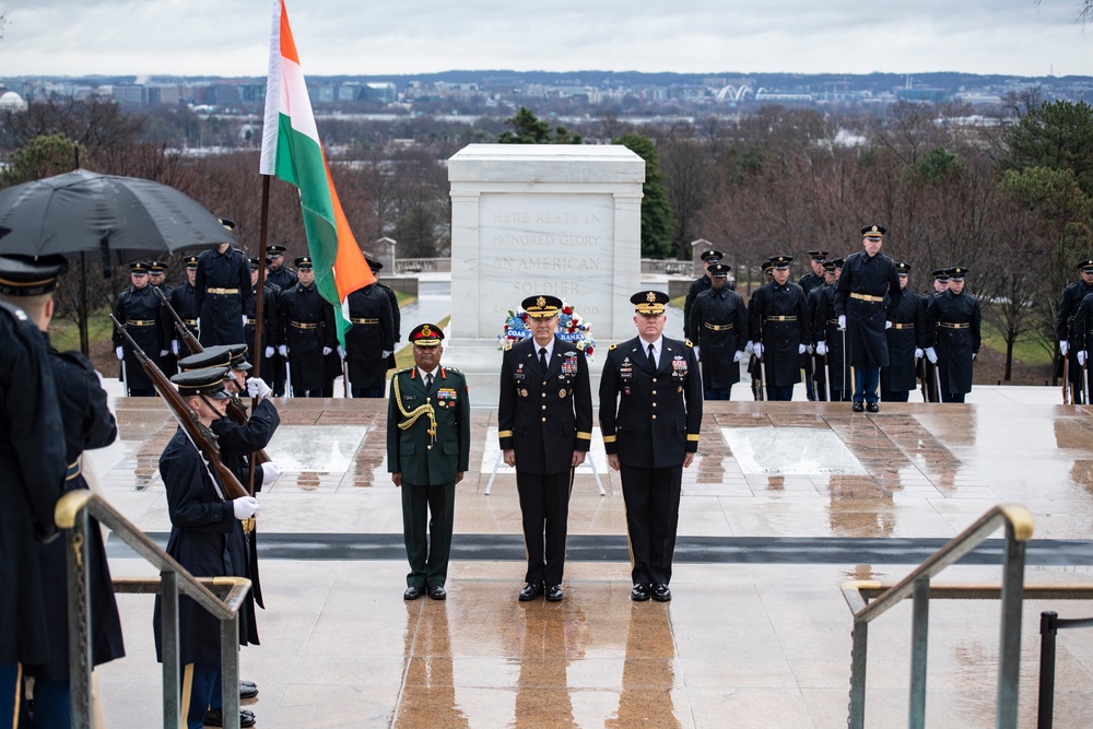
[[[338,200],[283,0],[273,0],[259,172],[275,175],[299,188],[304,233],[315,266],[315,285],[322,298],[334,306],[340,325],[338,339],[344,344],[344,332],[350,327],[343,310],[345,297],[373,283],[376,275],[365,262]]]

